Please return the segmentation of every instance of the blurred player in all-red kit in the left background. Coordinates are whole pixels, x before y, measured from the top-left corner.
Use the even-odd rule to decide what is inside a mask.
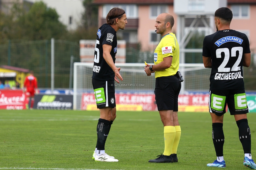
[[[33,71],[29,72],[30,75],[25,78],[24,81],[24,90],[27,95],[27,104],[26,107],[27,109],[29,108],[29,101],[30,101],[30,109],[33,108],[34,101],[35,101],[35,93],[38,94],[38,89],[37,89],[37,78],[34,76]]]

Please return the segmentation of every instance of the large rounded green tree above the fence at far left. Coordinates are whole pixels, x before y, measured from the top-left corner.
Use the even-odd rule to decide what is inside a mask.
[[[28,12],[23,4],[14,4],[9,14],[0,14],[0,38],[24,40],[61,39],[67,34],[66,26],[53,8],[42,1],[35,2]]]

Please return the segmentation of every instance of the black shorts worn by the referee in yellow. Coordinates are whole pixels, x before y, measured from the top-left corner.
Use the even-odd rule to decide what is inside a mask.
[[[154,90],[157,109],[178,111],[180,88],[181,83],[175,75],[157,77]]]

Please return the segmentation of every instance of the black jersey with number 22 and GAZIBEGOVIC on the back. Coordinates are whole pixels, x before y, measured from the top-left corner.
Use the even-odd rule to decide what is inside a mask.
[[[244,89],[244,53],[250,53],[244,33],[220,30],[205,36],[202,55],[212,59],[210,90]]]

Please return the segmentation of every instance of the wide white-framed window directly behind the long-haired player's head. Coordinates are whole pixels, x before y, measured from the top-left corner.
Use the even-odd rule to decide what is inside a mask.
[[[138,7],[137,5],[126,5],[126,4],[107,4],[103,6],[103,12],[102,12],[102,17],[106,18],[106,16],[108,15],[108,12],[110,11],[110,9],[112,8],[122,8],[123,10],[125,10],[126,13],[126,17],[129,18],[138,18]]]

